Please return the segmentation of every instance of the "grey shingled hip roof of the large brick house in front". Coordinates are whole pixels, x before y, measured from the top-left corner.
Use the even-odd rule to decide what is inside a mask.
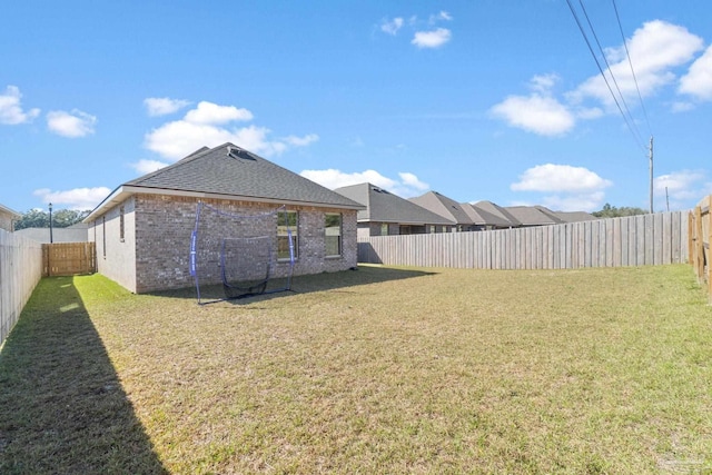
[[[127,181],[85,221],[134,194],[363,209],[359,204],[229,142],[211,149],[202,147],[174,165]]]

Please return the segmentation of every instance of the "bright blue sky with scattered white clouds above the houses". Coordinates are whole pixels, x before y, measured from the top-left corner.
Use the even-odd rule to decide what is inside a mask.
[[[585,0],[595,37],[571,4],[626,120],[565,0],[9,2],[0,204],[90,209],[233,141],[329,188],[647,209],[652,135],[654,209],[694,206],[712,2]]]

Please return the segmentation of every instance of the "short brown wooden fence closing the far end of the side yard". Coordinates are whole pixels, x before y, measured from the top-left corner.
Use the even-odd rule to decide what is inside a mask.
[[[95,243],[42,245],[42,277],[73,276],[97,270]]]

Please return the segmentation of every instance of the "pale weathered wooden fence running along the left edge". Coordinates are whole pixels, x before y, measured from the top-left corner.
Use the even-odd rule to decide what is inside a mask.
[[[42,245],[0,229],[0,345],[42,276]]]

